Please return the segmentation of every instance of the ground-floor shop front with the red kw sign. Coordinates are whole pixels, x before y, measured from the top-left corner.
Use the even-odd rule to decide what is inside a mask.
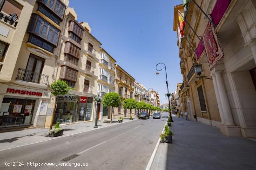
[[[57,108],[54,123],[72,123],[92,119],[93,98],[78,95],[57,97]]]

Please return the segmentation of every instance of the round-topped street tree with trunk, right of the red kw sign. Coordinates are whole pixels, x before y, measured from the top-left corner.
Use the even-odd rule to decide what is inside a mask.
[[[121,98],[118,93],[110,92],[104,96],[102,103],[105,108],[111,106],[110,123],[112,124],[113,107],[118,107],[120,105]]]

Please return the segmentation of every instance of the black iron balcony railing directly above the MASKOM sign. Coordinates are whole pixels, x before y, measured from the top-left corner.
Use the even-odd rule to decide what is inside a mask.
[[[23,68],[19,68],[16,80],[23,80],[27,82],[37,83],[40,85],[48,85],[48,77],[49,76],[41,74],[39,72],[32,72]]]

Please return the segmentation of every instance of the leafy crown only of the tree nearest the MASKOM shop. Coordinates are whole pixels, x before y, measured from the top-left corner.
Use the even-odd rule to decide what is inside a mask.
[[[65,81],[56,80],[51,84],[51,92],[54,96],[65,95],[73,88],[69,87]]]

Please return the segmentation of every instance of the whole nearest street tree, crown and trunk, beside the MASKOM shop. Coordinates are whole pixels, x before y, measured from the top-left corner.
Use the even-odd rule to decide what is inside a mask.
[[[56,80],[51,84],[50,89],[51,89],[52,95],[55,96],[55,103],[54,103],[54,111],[53,111],[53,115],[52,115],[49,130],[51,130],[53,128],[54,116],[55,116],[55,112],[56,112],[56,108],[57,108],[56,105],[57,105],[58,96],[67,94],[73,88],[69,87],[65,81]]]

